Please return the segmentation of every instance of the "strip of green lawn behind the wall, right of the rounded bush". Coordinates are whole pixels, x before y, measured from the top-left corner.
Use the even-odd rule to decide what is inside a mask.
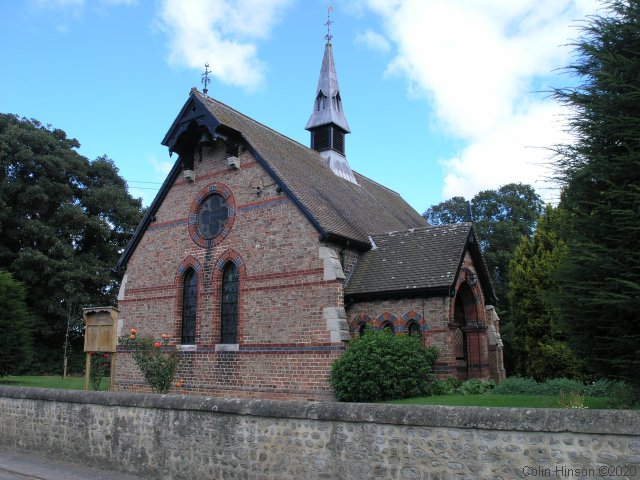
[[[436,395],[433,397],[406,398],[387,403],[410,405],[449,405],[475,407],[561,408],[557,395]],[[608,398],[584,397],[588,408],[612,408]]]

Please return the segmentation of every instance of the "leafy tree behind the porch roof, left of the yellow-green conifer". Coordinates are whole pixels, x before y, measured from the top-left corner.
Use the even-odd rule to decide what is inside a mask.
[[[521,238],[530,238],[533,234],[543,206],[533,187],[510,183],[498,190],[484,190],[470,202],[464,197],[453,197],[430,207],[423,214],[432,225],[460,223],[469,221],[471,208],[474,227],[498,297],[496,307],[501,320],[507,372],[514,370],[515,363],[511,350],[513,328],[509,318],[509,262]]]

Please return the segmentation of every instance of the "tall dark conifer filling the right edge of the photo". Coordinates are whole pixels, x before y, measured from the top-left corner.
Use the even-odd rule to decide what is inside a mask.
[[[574,43],[577,86],[554,92],[575,138],[556,148],[568,212],[556,301],[590,370],[640,385],[640,3],[604,5]]]

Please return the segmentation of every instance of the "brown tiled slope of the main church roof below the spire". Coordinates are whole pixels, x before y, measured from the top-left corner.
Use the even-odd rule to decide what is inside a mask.
[[[340,178],[318,152],[197,91],[192,95],[220,123],[242,134],[327,233],[367,243],[373,233],[426,225],[396,192],[357,173],[359,185]]]

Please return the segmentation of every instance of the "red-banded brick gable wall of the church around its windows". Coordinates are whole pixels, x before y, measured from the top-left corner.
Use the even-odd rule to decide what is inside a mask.
[[[251,153],[241,153],[239,170],[226,159],[220,142],[205,149],[202,161],[196,153],[195,181],[178,177],[170,188],[128,262],[118,304],[123,332],[136,327],[139,336],[155,338],[166,332],[179,344],[182,275],[191,267],[198,276],[196,341],[181,351],[177,379],[184,383],[176,392],[332,398],[328,373],[344,343],[329,331],[327,309],[343,307],[342,279],[325,280],[317,230]],[[230,192],[235,216],[224,240],[206,247],[191,238],[189,215],[212,185]],[[239,270],[238,343],[221,347],[227,261]],[[117,388],[147,390],[131,358],[120,357]]]

